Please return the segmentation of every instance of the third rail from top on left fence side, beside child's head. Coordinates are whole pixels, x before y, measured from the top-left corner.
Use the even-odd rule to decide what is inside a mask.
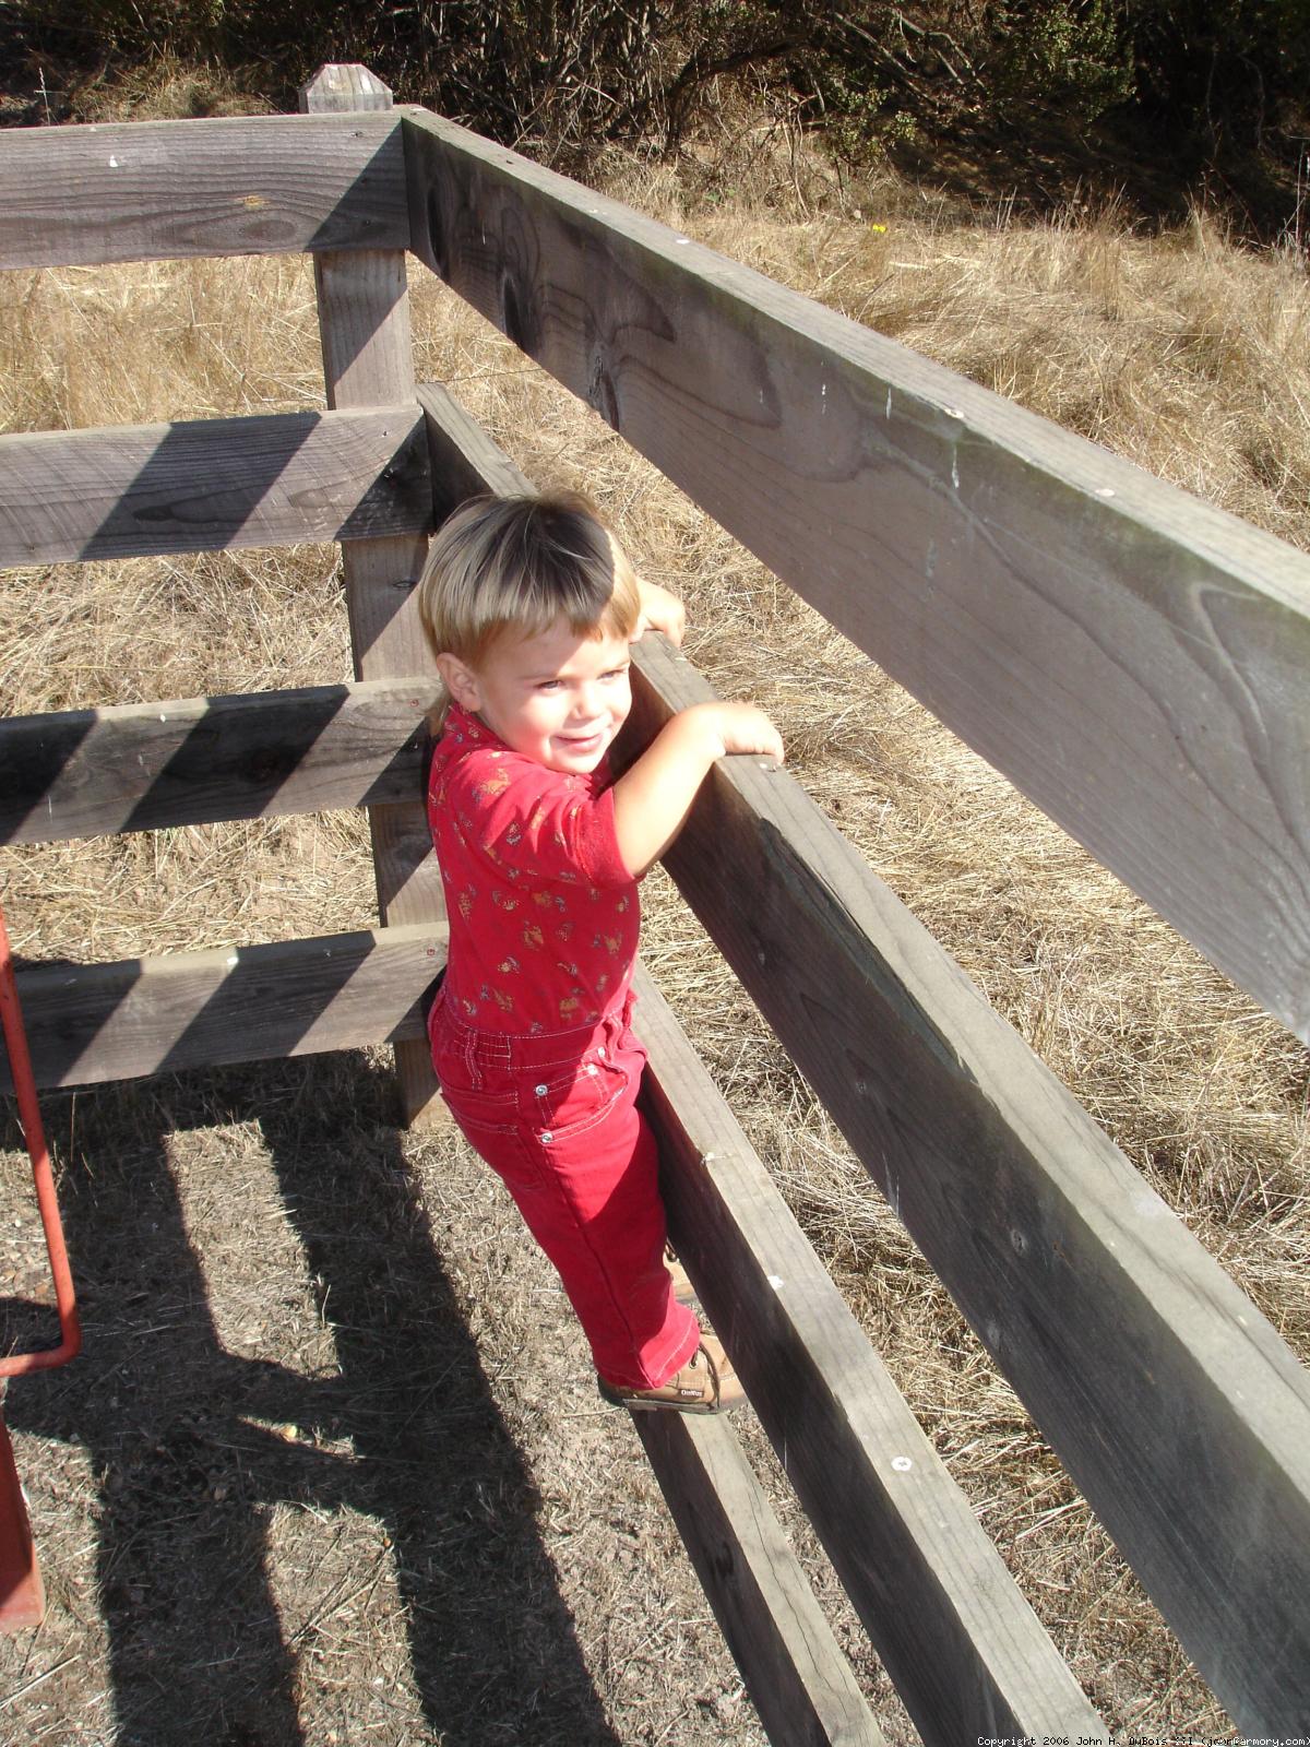
[[[423,795],[438,687],[372,680],[0,720],[0,842]]]

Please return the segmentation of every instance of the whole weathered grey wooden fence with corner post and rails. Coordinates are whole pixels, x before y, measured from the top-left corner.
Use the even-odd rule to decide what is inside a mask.
[[[0,135],[0,266],[311,250],[327,379],[321,414],[0,438],[0,563],[341,540],[356,660],[0,722],[0,837],[365,805],[383,919],[30,966],[45,1085],[390,1039],[431,1099],[412,583],[454,503],[524,482],[414,383],[405,250],[1310,1036],[1305,557],[362,68],[304,108]],[[634,746],[709,695],[653,641]],[[667,865],[1238,1728],[1305,1733],[1289,1349],[789,776],[721,765]],[[1107,1740],[648,984],[641,1012],[688,1272],[924,1742]],[[880,1740],[732,1429],[639,1429],[770,1737]]]

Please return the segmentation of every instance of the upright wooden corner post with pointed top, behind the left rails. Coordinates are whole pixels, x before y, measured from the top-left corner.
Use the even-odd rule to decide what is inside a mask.
[[[300,110],[386,110],[391,91],[367,66],[321,66],[300,91]],[[314,255],[318,325],[328,407],[414,402],[414,355],[403,250],[327,250]],[[346,599],[356,680],[388,680],[437,671],[412,599],[426,540],[390,536],[342,540]],[[377,908],[388,924],[445,917],[440,874],[430,854],[419,795],[370,807]],[[398,1043],[396,1073],[405,1120],[440,1120],[428,1048]]]

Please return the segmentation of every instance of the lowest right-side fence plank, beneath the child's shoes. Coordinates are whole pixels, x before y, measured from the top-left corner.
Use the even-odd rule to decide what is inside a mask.
[[[769,1740],[886,1747],[728,1420],[632,1422]]]

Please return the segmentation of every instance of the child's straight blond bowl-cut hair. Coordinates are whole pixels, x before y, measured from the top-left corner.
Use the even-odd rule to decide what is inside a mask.
[[[578,636],[631,638],[638,578],[604,517],[578,491],[470,498],[437,529],[419,578],[435,655],[475,667],[505,632],[540,636],[557,618]],[[433,711],[438,728],[445,706]]]

